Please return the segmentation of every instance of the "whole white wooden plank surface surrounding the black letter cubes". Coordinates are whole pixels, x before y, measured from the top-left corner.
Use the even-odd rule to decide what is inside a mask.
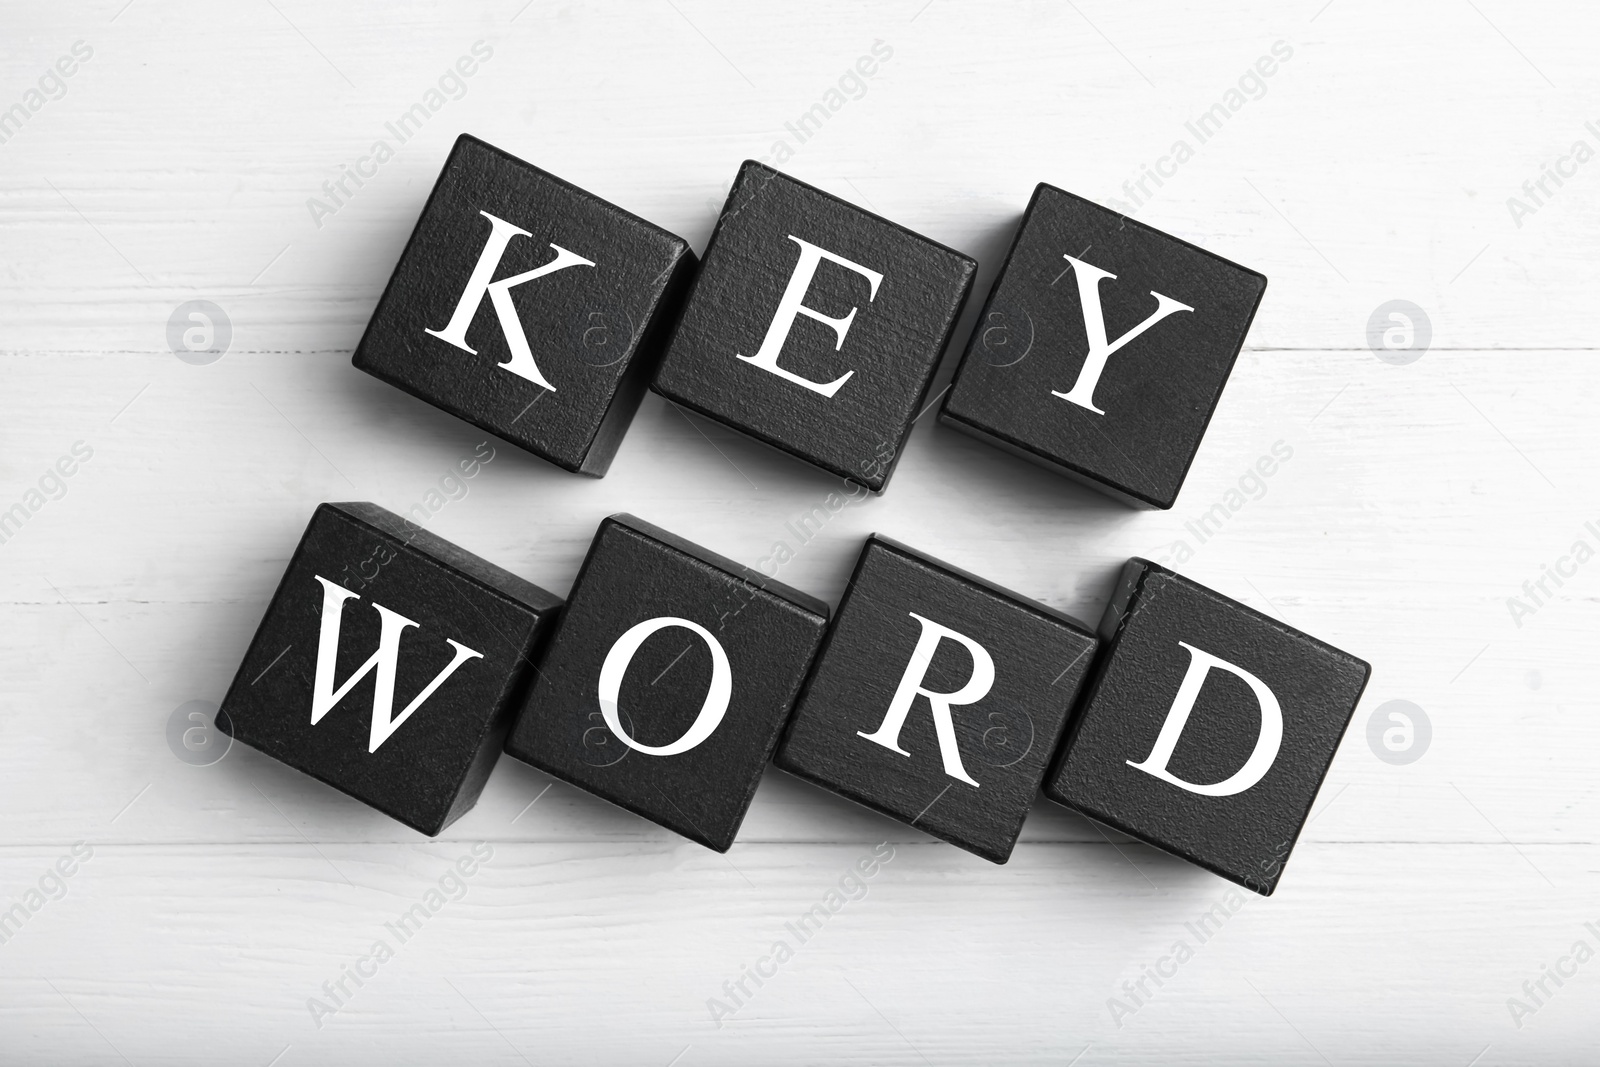
[[[93,448],[0,544],[0,905],[93,848],[0,944],[0,1061],[1594,1062],[1600,961],[1522,1025],[1507,998],[1600,949],[1600,563],[1522,625],[1506,603],[1600,544],[1600,162],[1522,226],[1506,206],[1600,147],[1592,13],[50,0],[0,26],[0,107],[93,48],[0,144],[0,507]],[[307,197],[478,40],[466,96],[315,226]],[[770,771],[723,857],[502,760],[429,841],[243,747],[192,766],[166,742],[174,709],[221,697],[318,501],[405,510],[482,440],[349,365],[459,131],[702,248],[739,160],[877,40],[893,58],[786,170],[978,256],[979,291],[1037,181],[1126,198],[1293,48],[1138,213],[1270,277],[1176,510],[928,416],[890,493],[782,573],[837,603],[880,530],[1093,621],[1125,557],[1293,448],[1184,569],[1373,681],[1277,896],[1120,1025],[1107,1000],[1227,883],[1048,803],[995,867]],[[166,342],[189,299],[232,323],[208,366]],[[1390,299],[1432,322],[1411,365],[1368,349]],[[651,397],[605,480],[501,448],[432,528],[565,593],[613,510],[754,565],[829,488]],[[1366,742],[1390,699],[1434,726],[1406,766]],[[885,840],[867,896],[714,1025],[723,981]],[[467,894],[315,1025],[307,998],[475,841]]]

